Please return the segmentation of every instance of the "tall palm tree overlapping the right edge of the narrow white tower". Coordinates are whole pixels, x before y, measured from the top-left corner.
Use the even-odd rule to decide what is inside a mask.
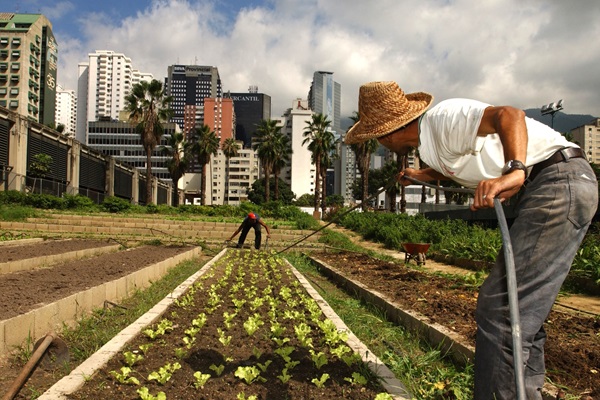
[[[321,158],[328,154],[334,143],[333,132],[330,129],[331,121],[323,114],[313,114],[310,121],[306,121],[306,128],[302,133],[304,140],[302,145],[308,143],[308,150],[311,152],[311,161],[316,169],[315,176],[315,211],[319,210],[319,200],[321,198]]]

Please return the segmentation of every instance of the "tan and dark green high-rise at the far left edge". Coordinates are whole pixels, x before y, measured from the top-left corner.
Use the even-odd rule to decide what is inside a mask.
[[[0,13],[0,106],[54,121],[58,45],[42,14]]]

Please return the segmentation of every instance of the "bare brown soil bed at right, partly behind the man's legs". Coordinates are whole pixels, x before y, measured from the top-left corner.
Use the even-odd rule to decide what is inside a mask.
[[[358,253],[312,253],[345,276],[417,311],[475,345],[478,287]],[[547,378],[571,395],[600,399],[600,319],[552,311],[544,325]],[[587,397],[589,398],[589,397]]]

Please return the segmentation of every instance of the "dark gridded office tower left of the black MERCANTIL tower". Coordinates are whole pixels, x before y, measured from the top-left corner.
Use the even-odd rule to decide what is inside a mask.
[[[167,94],[173,97],[172,122],[188,135],[204,121],[204,99],[222,97],[221,78],[217,67],[203,65],[171,65],[165,79]]]

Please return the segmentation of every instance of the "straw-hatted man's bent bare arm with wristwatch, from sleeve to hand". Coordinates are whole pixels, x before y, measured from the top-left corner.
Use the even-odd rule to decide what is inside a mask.
[[[504,149],[504,162],[527,161],[527,125],[525,113],[510,106],[488,107],[483,113],[478,136],[497,133]],[[477,210],[494,206],[494,198],[501,201],[514,196],[525,183],[525,172],[514,170],[498,178],[479,182],[471,208]]]

